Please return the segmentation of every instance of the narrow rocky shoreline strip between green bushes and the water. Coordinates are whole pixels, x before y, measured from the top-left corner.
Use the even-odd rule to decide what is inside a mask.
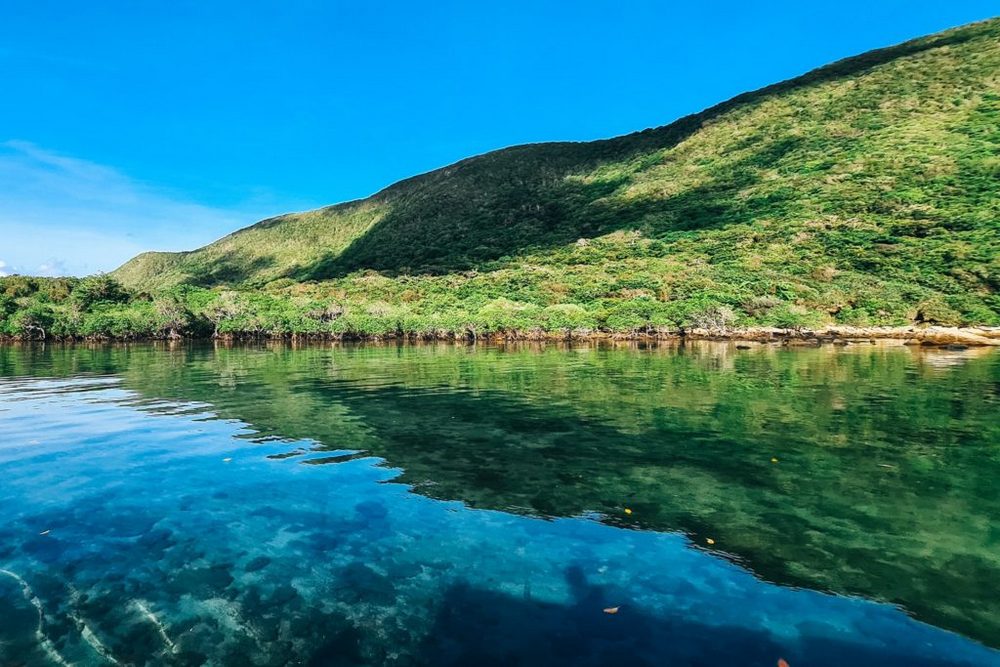
[[[1000,347],[1000,327],[854,327],[831,325],[815,329],[781,329],[775,327],[746,327],[733,329],[675,329],[636,331],[508,331],[476,333],[474,331],[441,331],[429,334],[392,332],[383,335],[332,335],[332,334],[246,334],[219,336],[137,336],[137,337],[85,337],[85,338],[21,338],[0,336],[0,343],[142,343],[142,342],[222,342],[240,343],[254,341],[293,342],[402,342],[418,343],[452,341],[466,343],[505,342],[587,342],[587,341],[684,341],[714,340],[734,343],[767,343],[789,346],[850,345],[899,341],[902,345],[926,347]]]

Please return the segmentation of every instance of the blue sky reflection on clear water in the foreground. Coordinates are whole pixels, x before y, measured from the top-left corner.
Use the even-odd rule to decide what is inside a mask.
[[[311,443],[248,444],[113,381],[2,380],[0,411],[3,664],[1000,665],[676,534],[469,510],[372,459],[268,459]]]

